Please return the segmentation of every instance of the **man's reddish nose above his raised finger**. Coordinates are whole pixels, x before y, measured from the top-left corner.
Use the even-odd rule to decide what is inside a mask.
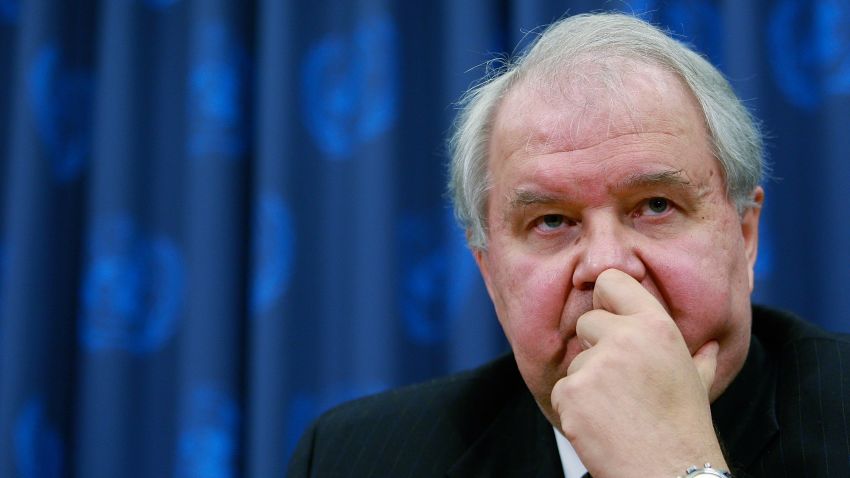
[[[641,282],[646,266],[636,250],[629,228],[614,217],[594,217],[583,221],[578,240],[578,257],[573,287],[592,290],[602,271],[618,269]]]

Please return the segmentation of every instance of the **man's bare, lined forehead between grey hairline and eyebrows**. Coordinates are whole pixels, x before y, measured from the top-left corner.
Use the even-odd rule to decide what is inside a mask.
[[[697,129],[707,135],[701,112],[674,73],[619,57],[594,58],[526,73],[497,110],[493,142],[503,150],[545,154],[632,133]]]

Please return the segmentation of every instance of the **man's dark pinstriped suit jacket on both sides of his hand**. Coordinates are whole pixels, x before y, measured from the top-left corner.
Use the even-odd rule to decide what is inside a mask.
[[[850,337],[754,307],[747,361],[711,408],[736,477],[850,477]],[[327,412],[302,437],[288,476],[563,472],[552,426],[508,355]]]

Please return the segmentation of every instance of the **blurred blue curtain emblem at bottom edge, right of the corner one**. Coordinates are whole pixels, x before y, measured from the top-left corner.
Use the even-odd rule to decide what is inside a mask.
[[[190,393],[177,450],[178,478],[236,476],[239,408],[229,393],[197,386]]]

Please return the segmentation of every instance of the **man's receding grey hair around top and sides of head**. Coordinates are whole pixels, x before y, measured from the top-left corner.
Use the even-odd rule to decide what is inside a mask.
[[[503,98],[531,74],[555,78],[588,58],[618,57],[660,67],[679,76],[702,108],[714,156],[726,181],[726,194],[738,212],[754,205],[762,179],[762,136],[723,75],[702,56],[638,18],[596,13],[564,18],[536,39],[515,61],[488,74],[459,102],[449,140],[449,194],[469,245],[487,247],[487,158],[490,135]]]

